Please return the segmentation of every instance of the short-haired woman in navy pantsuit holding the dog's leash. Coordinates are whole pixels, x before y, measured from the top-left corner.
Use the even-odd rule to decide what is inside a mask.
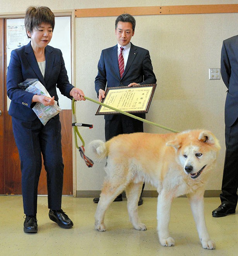
[[[56,87],[68,98],[85,100],[82,90],[68,81],[62,52],[48,45],[54,26],[55,16],[48,7],[29,7],[25,27],[31,41],[12,51],[7,71],[7,95],[11,99],[9,114],[21,160],[26,214],[24,232],[38,231],[36,212],[41,153],[47,172],[49,217],[62,228],[74,225],[61,208],[64,165],[59,115],[44,126],[32,110],[35,102],[49,106],[54,104],[54,100],[58,101]],[[18,84],[27,78],[37,78],[52,98],[22,90]]]

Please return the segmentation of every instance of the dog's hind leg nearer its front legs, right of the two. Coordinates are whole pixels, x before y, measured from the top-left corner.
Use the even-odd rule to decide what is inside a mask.
[[[146,230],[146,225],[140,222],[138,216],[138,201],[141,193],[142,184],[143,182],[131,182],[125,189],[127,195],[127,210],[130,222],[137,230]]]

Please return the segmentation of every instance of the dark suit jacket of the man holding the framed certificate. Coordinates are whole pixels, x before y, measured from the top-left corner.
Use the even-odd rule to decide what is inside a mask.
[[[107,87],[128,86],[130,83],[148,85],[156,83],[149,51],[131,43],[127,65],[120,77],[118,66],[117,45],[104,49],[98,62],[98,75],[95,78],[95,90],[105,90]],[[145,118],[145,114],[137,114]],[[113,115],[105,115],[106,120],[111,120]]]

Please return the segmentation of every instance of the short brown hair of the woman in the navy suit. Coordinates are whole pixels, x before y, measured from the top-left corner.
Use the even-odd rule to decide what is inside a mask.
[[[32,32],[33,28],[37,28],[41,23],[50,24],[52,27],[52,31],[55,27],[55,15],[50,10],[49,7],[46,6],[30,6],[26,10],[25,16],[25,28],[27,31]],[[29,36],[27,35],[29,38]]]

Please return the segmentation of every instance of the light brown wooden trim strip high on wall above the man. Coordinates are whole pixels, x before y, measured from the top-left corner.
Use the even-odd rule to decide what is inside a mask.
[[[131,15],[168,15],[168,14],[204,14],[204,13],[233,13],[238,12],[238,4],[215,5],[171,5],[147,7],[115,7],[76,9],[75,17],[106,17],[118,16],[122,13]]]

